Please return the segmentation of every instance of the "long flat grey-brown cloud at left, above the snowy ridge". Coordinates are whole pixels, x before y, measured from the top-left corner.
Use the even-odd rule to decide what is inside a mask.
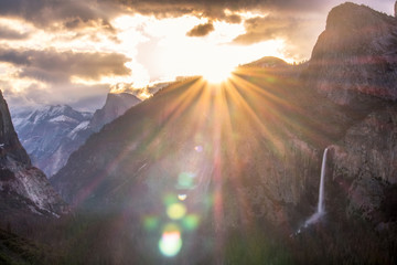
[[[129,59],[117,53],[74,53],[55,50],[17,51],[0,47],[0,62],[8,62],[21,68],[20,77],[61,83],[71,76],[98,81],[106,75],[128,75],[125,66]]]

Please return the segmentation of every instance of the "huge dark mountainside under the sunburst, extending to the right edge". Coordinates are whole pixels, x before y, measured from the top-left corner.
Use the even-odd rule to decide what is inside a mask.
[[[129,231],[125,255],[141,263],[176,247],[170,263],[393,264],[395,21],[341,4],[303,66],[176,82],[92,135],[51,182],[112,216],[116,239]],[[322,163],[325,215],[308,227]]]

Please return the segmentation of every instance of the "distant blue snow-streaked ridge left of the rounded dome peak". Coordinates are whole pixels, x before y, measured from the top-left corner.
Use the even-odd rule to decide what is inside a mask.
[[[82,130],[87,128],[90,117],[89,113],[57,105],[19,114],[13,120],[33,165],[51,178],[88,137]]]

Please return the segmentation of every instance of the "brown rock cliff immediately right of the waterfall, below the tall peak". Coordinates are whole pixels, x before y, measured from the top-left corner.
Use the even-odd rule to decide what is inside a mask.
[[[332,146],[332,179],[347,199],[348,215],[382,225],[396,221],[397,108],[371,113]],[[389,214],[393,213],[393,214]]]

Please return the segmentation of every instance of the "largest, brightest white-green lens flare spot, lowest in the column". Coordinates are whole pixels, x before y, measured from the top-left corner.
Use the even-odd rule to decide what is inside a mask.
[[[175,224],[165,225],[159,241],[159,250],[164,256],[175,256],[182,247],[181,232]]]

